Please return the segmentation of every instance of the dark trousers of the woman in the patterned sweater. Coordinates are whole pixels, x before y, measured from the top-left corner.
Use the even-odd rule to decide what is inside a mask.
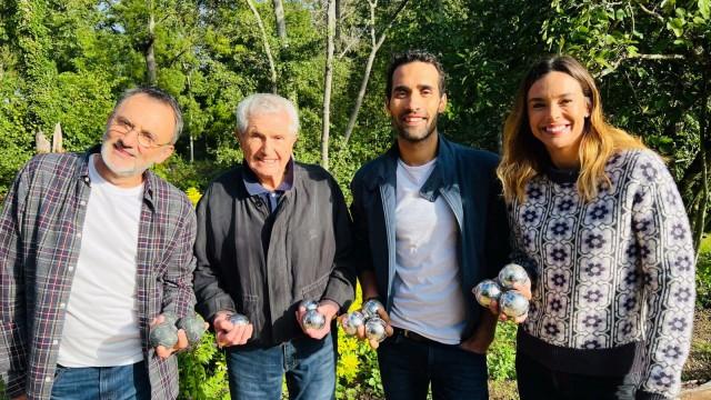
[[[593,377],[553,371],[518,352],[517,383],[521,400],[634,400],[639,374]]]

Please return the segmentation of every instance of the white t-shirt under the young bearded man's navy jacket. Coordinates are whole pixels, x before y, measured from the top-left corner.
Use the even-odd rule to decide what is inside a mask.
[[[458,344],[465,326],[465,302],[457,260],[458,226],[447,201],[420,196],[437,159],[411,167],[398,160],[395,277],[390,318],[445,344]]]

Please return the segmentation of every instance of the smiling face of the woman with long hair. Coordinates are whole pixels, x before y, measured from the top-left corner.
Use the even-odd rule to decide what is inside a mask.
[[[578,149],[590,116],[590,99],[580,83],[552,71],[533,82],[527,96],[529,126],[559,168],[579,164]]]

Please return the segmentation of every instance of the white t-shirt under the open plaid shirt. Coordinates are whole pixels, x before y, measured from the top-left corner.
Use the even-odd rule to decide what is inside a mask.
[[[136,300],[138,230],[143,186],[107,182],[89,160],[91,193],[67,303],[58,363],[128,366],[143,359]]]

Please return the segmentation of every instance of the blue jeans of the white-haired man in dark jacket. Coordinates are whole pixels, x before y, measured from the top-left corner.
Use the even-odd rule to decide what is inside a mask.
[[[336,398],[336,352],[331,334],[298,338],[270,348],[231,347],[227,369],[232,400],[279,400],[281,382],[292,400]]]

